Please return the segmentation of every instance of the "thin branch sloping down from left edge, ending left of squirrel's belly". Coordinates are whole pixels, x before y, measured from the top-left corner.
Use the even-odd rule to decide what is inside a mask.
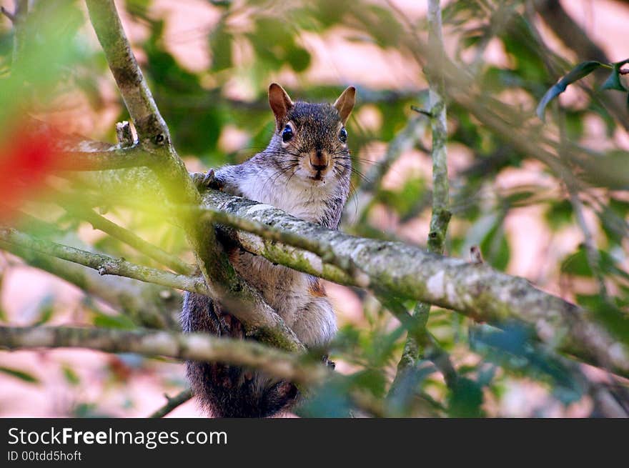
[[[0,227],[0,240],[22,249],[30,249],[41,254],[81,264],[84,267],[95,269],[101,275],[113,274],[184,291],[197,292],[198,294],[208,294],[207,287],[201,278],[142,267],[124,259],[114,259],[107,255],[93,254],[74,247],[56,244],[56,242],[36,239],[16,229]]]

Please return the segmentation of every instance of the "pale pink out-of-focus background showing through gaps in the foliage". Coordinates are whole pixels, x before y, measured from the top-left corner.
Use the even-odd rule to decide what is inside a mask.
[[[394,3],[411,18],[425,14],[425,1],[397,0]],[[620,60],[627,56],[627,49],[623,46],[626,41],[623,39],[626,37],[629,24],[628,8],[612,0],[566,0],[562,3],[611,59]],[[0,4],[12,8],[11,1],[3,0]],[[154,9],[167,12],[164,15],[167,17],[167,44],[181,64],[194,71],[207,69],[209,54],[206,33],[219,18],[217,9],[204,0],[159,0],[155,2]],[[144,31],[142,26],[132,24],[126,16],[123,15],[122,19],[132,41],[146,34],[147,31]],[[6,22],[6,19],[0,21]],[[243,18],[242,21],[247,19]],[[588,59],[574,57],[563,51],[560,43],[541,22],[537,26],[553,49],[562,51],[564,56],[571,57],[574,61]],[[86,28],[86,34],[91,37],[92,46],[96,47],[93,32]],[[353,83],[373,89],[420,89],[425,86],[420,67],[395,51],[385,52],[369,44],[352,43],[341,33],[324,36],[307,34],[305,41],[314,59],[306,77],[309,82]],[[142,62],[142,51],[137,51],[137,56]],[[507,57],[497,45],[490,45],[487,48],[485,59],[495,63],[507,61]],[[207,79],[211,81],[212,77],[208,76]],[[279,74],[275,79],[287,89],[301,82],[292,74]],[[75,93],[64,96],[66,104],[64,108],[47,118],[59,119],[66,124],[69,122],[71,130],[98,139],[114,126],[119,114],[117,91],[113,81],[104,82],[101,86],[108,103],[99,113],[91,110],[85,96]],[[252,97],[252,86],[238,76],[234,76],[228,89],[232,97],[239,99]],[[582,97],[578,91],[569,89],[561,99],[567,103],[578,103]],[[505,99],[509,99],[509,96],[505,96]],[[368,107],[362,109],[357,119],[367,128],[378,125],[377,116],[370,113]],[[602,121],[590,119],[587,131],[589,144],[594,147],[603,144],[601,142],[605,141],[606,137]],[[224,149],[237,149],[239,134],[235,129],[228,128],[221,141]],[[615,134],[615,141],[623,148],[629,149],[629,136],[624,131],[619,130]],[[385,144],[375,147],[374,157],[382,154],[384,149]],[[465,168],[470,155],[456,145],[451,145],[448,150],[448,169],[450,177],[455,179],[457,171]],[[385,186],[397,186],[410,174],[418,172],[430,179],[430,167],[430,161],[424,154],[407,151],[392,167],[385,179]],[[189,169],[200,168],[191,163]],[[540,184],[540,177],[543,177],[543,167],[529,161],[520,169],[503,173],[494,181],[493,188],[498,193],[507,192],[515,186],[527,184],[527,181]],[[541,180],[548,191],[559,191],[560,188],[552,178]],[[540,221],[542,209],[541,206],[515,209],[510,211],[505,219],[505,230],[512,244],[512,257],[507,272],[525,277],[538,287],[561,295],[565,299],[573,299],[562,287],[556,266],[559,259],[574,252],[578,244],[583,242],[582,234],[578,229],[570,227],[551,233]],[[591,229],[596,229],[593,214],[586,212],[586,219]],[[374,219],[374,224],[381,229],[395,232],[409,242],[423,244],[427,237],[427,221],[424,217],[400,224],[395,216],[383,214]],[[454,219],[451,229],[465,231],[467,226]],[[79,234],[86,241],[100,235],[91,231],[88,226],[84,226]],[[470,245],[475,243],[471,235],[469,242]],[[36,318],[35,314],[41,303],[51,297],[54,297],[56,309],[51,324],[81,323],[84,314],[81,305],[83,294],[76,287],[27,267],[16,257],[4,252],[0,252],[0,270],[3,278],[0,304],[9,323],[16,325],[31,323]],[[327,291],[337,305],[340,324],[362,323],[361,303],[350,290],[335,284],[327,284]],[[473,359],[469,353],[457,354],[456,350],[453,357],[457,364],[461,364],[463,359]],[[145,417],[164,404],[164,392],[174,395],[183,389],[185,379],[181,364],[159,360],[148,360],[140,366],[141,363],[142,359],[139,357],[119,357],[70,349],[0,352],[0,367],[22,369],[39,381],[26,383],[0,373],[0,416],[65,417],[71,414],[106,414],[118,417]],[[348,368],[340,363],[338,369],[344,372]],[[594,370],[592,372],[595,373]],[[492,402],[490,399],[487,405],[488,414],[525,416],[532,414],[535,408],[545,405],[547,416],[582,416],[588,414],[590,409],[590,403],[586,399],[565,410],[559,404],[550,402],[545,389],[526,379],[514,379],[505,392],[500,402]],[[200,414],[194,402],[183,404],[169,414],[169,417],[198,416]]]

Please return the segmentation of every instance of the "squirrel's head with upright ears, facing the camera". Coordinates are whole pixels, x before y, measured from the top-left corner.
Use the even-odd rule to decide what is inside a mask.
[[[272,83],[269,104],[276,126],[269,150],[281,156],[280,169],[314,184],[349,179],[345,122],[354,109],[355,95],[355,87],[350,86],[334,104],[293,102],[282,86]]]

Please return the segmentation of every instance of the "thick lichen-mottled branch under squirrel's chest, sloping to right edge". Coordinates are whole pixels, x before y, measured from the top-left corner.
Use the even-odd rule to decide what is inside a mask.
[[[486,264],[441,257],[400,242],[362,239],[331,231],[285,214],[272,206],[218,191],[204,194],[214,209],[252,219],[302,237],[318,239],[337,258],[345,258],[366,275],[367,286],[394,297],[435,304],[479,322],[517,320],[530,325],[538,338],[585,362],[629,375],[629,349],[615,339],[593,314],[545,293],[526,279],[511,277]],[[357,286],[352,276],[325,264],[311,252],[287,247],[254,234],[235,234],[242,247],[271,262],[301,272]]]

